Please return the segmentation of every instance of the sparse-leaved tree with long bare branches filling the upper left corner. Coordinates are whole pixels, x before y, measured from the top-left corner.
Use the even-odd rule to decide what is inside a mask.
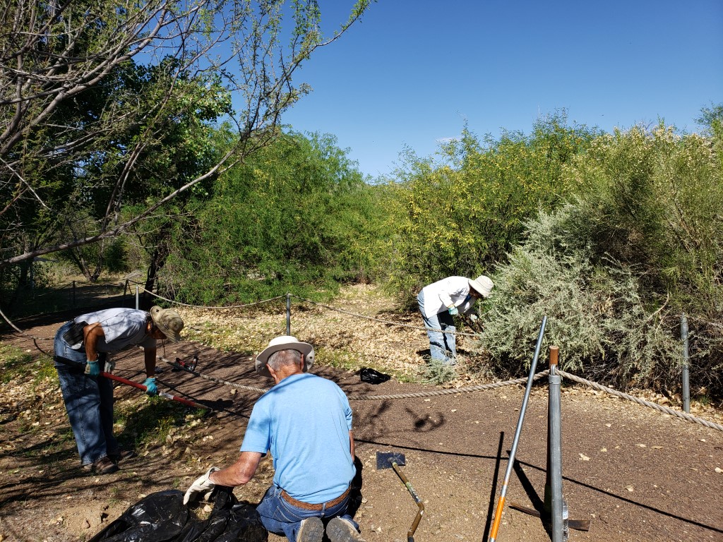
[[[143,228],[267,145],[369,1],[325,36],[316,0],[3,0],[0,270]]]

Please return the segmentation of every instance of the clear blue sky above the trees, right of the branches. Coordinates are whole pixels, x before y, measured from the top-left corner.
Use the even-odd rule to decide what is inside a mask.
[[[325,33],[348,6],[320,0]],[[283,123],[334,134],[373,177],[465,123],[529,134],[563,108],[608,132],[658,119],[696,132],[723,103],[723,0],[379,0],[296,80],[314,90]]]

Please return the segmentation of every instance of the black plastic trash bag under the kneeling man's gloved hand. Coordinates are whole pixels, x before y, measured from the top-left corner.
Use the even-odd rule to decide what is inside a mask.
[[[129,507],[89,542],[267,542],[256,507],[217,486],[208,520],[195,518],[178,490],[158,491]]]

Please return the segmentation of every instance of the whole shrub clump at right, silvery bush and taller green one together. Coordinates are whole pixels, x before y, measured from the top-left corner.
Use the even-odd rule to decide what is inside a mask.
[[[528,225],[495,272],[484,334],[492,365],[518,373],[544,314],[562,366],[621,386],[680,389],[680,317],[693,392],[722,395],[720,135],[635,127],[594,140],[563,168],[577,197]]]

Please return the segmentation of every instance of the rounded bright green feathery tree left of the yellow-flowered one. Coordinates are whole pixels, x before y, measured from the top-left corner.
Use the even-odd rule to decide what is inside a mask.
[[[174,228],[163,284],[194,304],[311,295],[374,266],[376,192],[330,136],[288,134],[219,178]]]

